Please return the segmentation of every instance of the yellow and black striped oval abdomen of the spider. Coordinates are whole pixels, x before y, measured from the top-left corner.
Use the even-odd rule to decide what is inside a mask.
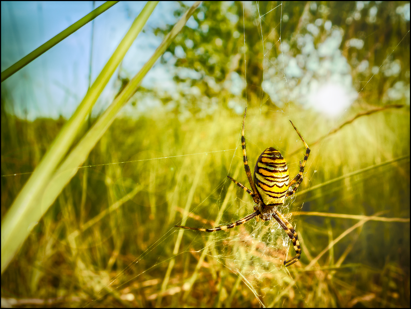
[[[287,163],[278,150],[270,147],[261,153],[254,167],[254,184],[266,205],[284,204],[290,183]]]

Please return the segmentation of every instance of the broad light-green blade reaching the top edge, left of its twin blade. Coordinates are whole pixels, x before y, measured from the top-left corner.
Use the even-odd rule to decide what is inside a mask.
[[[30,179],[17,195],[12,207],[10,207],[9,211],[4,216],[1,226],[2,272],[9,264],[18,248],[23,244],[34,226],[33,223],[39,221],[42,214],[44,214],[50,206],[40,207],[44,189],[49,183],[53,172],[58,167],[58,164],[72,145],[74,138],[79,133],[86,116],[91,111],[100,93],[103,91],[115,69],[120,64],[120,61],[124,58],[125,53],[130,48],[132,42],[134,42],[134,39],[140,33],[157,3],[158,1],[148,2],[139,16],[134,20],[129,31],[86,93],[76,112],[74,112],[73,116],[64,125],[56,139],[53,141],[50,149],[34,170]],[[65,184],[67,184],[67,182]]]

